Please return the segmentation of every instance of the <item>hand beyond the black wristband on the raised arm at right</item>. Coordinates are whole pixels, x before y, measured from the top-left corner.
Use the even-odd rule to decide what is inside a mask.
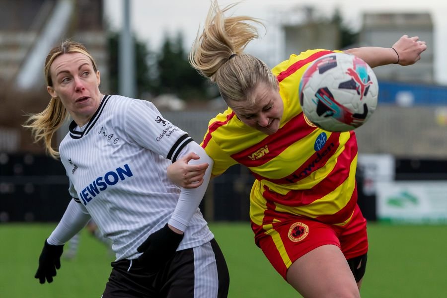
[[[427,50],[427,44],[419,40],[418,36],[403,35],[394,43],[393,48],[399,55],[399,64],[406,66],[415,64],[421,59],[422,52]]]

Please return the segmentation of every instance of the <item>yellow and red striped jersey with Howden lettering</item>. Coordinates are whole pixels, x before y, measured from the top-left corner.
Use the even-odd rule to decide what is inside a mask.
[[[331,53],[308,50],[273,68],[284,113],[279,130],[265,135],[227,109],[212,119],[202,147],[214,159],[213,174],[236,163],[256,177],[250,218],[263,225],[292,215],[344,225],[357,203],[354,132],[331,133],[311,124],[299,104],[299,81],[315,59]]]

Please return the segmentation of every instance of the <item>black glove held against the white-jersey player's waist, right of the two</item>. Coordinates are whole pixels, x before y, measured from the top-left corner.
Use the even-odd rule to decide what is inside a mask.
[[[177,234],[165,224],[137,248],[138,252],[143,253],[138,261],[148,268],[158,270],[172,258],[182,239],[183,234]]]

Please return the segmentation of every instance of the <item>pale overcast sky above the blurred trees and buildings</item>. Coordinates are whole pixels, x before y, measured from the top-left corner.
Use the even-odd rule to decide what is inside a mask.
[[[106,19],[115,30],[121,28],[123,0],[105,0]],[[221,6],[234,0],[220,0]],[[409,2],[409,3],[408,3]],[[140,40],[148,43],[149,49],[158,50],[166,34],[176,35],[182,32],[187,47],[194,41],[199,26],[203,24],[210,0],[130,0],[131,26]],[[267,26],[265,36],[250,44],[249,51],[260,56],[268,56],[276,64],[278,53],[272,48],[280,41],[276,25],[280,18],[296,17],[294,8],[303,3],[312,3],[318,11],[332,15],[334,9],[342,12],[343,19],[353,29],[359,29],[364,12],[430,12],[435,26],[435,77],[438,82],[447,84],[447,1],[442,0],[244,0],[233,10],[234,14],[250,15],[261,18]],[[286,12],[286,14],[285,14]],[[298,13],[296,13],[298,15]],[[405,34],[405,32],[402,32]],[[390,45],[391,46],[391,45]],[[251,49],[251,50],[250,50]],[[271,51],[271,53],[269,53]],[[270,55],[269,55],[270,54]],[[261,59],[265,57],[261,57]],[[271,61],[266,61],[269,65]],[[273,66],[273,65],[271,65]]]

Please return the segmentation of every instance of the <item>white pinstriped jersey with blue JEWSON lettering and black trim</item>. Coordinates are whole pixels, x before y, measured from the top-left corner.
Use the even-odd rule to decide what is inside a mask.
[[[191,141],[149,101],[119,95],[105,95],[82,128],[71,123],[59,148],[70,194],[113,241],[117,260],[139,255],[137,247],[170,219],[180,189],[166,168]],[[178,250],[213,237],[197,208]]]

